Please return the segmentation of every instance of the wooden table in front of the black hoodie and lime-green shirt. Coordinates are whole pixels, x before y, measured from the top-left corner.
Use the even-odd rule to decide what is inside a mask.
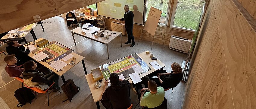
[[[142,73],[139,75],[140,78],[148,75],[148,74],[151,74],[153,72],[155,72],[156,70],[149,64],[150,62],[154,62],[155,60],[152,60],[150,58],[150,54],[146,54],[146,51],[145,52],[142,52],[142,53],[139,53],[138,54],[139,57],[148,64],[148,66],[151,68],[151,70],[145,72],[145,73]],[[164,67],[166,66],[163,62],[161,62],[160,60],[157,60],[156,61],[162,68],[160,70],[163,70]],[[92,97],[93,97],[93,100],[94,102],[96,103],[97,105],[97,108],[100,109],[100,106],[99,106],[99,101],[101,100],[101,94],[102,94],[102,91],[104,90],[104,87],[105,87],[105,84],[104,84],[104,81],[105,81],[105,78],[103,78],[103,82],[101,83],[101,87],[99,88],[96,88],[94,85],[96,82],[94,82],[94,80],[92,79],[92,73],[89,73],[87,75],[85,75],[86,77],[86,80],[88,82],[88,85],[89,85],[89,88],[91,90],[91,93],[92,93]],[[133,81],[131,79],[128,79],[128,81],[130,83],[133,83]]]

